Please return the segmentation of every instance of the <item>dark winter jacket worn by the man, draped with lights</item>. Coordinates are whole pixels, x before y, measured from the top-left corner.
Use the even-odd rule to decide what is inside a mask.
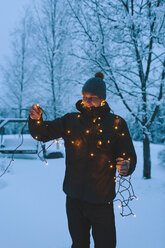
[[[118,157],[130,160],[130,175],[136,165],[134,146],[124,119],[110,113],[107,103],[90,110],[76,103],[80,112],[68,113],[40,124],[29,118],[33,138],[46,142],[62,137],[66,150],[64,192],[91,203],[106,203],[115,197]]]

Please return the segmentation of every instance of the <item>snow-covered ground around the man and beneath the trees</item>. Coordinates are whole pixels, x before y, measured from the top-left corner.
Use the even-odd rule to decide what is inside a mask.
[[[117,248],[164,248],[165,164],[157,157],[163,146],[151,145],[152,179],[145,180],[142,144],[134,144],[138,163],[132,184],[139,200],[131,204],[136,218],[122,218],[115,204]],[[8,160],[0,158],[2,163]],[[70,248],[62,191],[64,158],[48,163],[37,155],[17,155],[10,172],[0,178],[1,248]]]

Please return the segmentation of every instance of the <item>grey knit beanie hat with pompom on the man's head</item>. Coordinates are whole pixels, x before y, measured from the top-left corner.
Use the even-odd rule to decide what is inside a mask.
[[[82,93],[89,92],[93,95],[99,96],[101,99],[106,98],[106,85],[103,81],[104,75],[102,72],[97,72],[95,77],[92,77],[86,81],[82,88]]]

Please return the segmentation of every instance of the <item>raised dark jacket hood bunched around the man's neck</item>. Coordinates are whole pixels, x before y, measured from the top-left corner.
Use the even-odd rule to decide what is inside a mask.
[[[99,107],[91,107],[91,108],[85,108],[84,104],[82,103],[82,100],[79,100],[76,103],[76,108],[79,110],[83,115],[89,117],[89,118],[94,118],[98,116],[105,116],[108,114],[111,109],[108,105],[108,103],[105,101],[105,105],[99,106]]]

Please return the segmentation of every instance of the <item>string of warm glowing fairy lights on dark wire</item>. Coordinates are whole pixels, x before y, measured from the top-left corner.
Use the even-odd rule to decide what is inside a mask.
[[[43,111],[43,113],[45,114],[46,119],[47,119],[46,113],[44,111]],[[80,118],[80,117],[81,117],[81,114],[77,114],[77,118]],[[21,130],[21,143],[13,151],[11,160],[10,160],[8,166],[6,167],[6,169],[0,175],[0,178],[8,171],[9,167],[11,166],[12,162],[14,161],[15,152],[17,151],[18,148],[20,148],[22,146],[22,144],[24,142],[23,132],[24,132],[24,129],[25,129],[26,125],[27,125],[28,119],[29,119],[29,117],[27,118],[27,121],[25,122],[25,125],[23,126],[23,128]],[[98,128],[97,129],[97,134],[98,134],[99,138],[98,138],[98,141],[97,141],[97,148],[101,148],[101,146],[103,145],[103,141],[101,140],[101,136],[100,136],[100,134],[102,134],[102,132],[103,132],[103,130],[101,129],[100,121],[101,121],[101,117],[97,117],[97,118],[93,119],[93,124],[96,124],[96,122],[98,122],[97,123],[97,128]],[[38,120],[36,123],[38,125],[40,125],[41,121]],[[114,122],[114,130],[116,130],[116,131],[118,130],[119,123],[120,123],[120,117],[116,116],[116,119],[115,119],[115,122]],[[90,129],[85,130],[85,134],[89,135],[92,132],[93,127],[94,126],[92,125]],[[71,130],[67,130],[66,132],[67,132],[68,135],[71,134]],[[118,133],[118,135],[121,135],[122,137],[124,137],[125,133],[124,132],[122,132],[121,134]],[[38,136],[36,136],[35,139],[37,140]],[[107,144],[111,143],[110,139],[107,139],[106,142],[107,142]],[[59,146],[62,146],[63,145],[63,139],[53,140],[46,148],[44,148],[45,152],[47,152],[48,149],[54,143],[58,144]],[[44,156],[40,156],[40,154],[43,152],[43,143],[41,141],[40,141],[40,145],[41,145],[42,148],[37,153],[37,155],[38,155],[39,159],[42,162],[44,162],[45,165],[47,166],[48,161],[46,160],[46,158]],[[76,145],[77,147],[80,148],[81,147],[81,141],[80,140],[71,140],[71,145]],[[126,158],[126,153],[125,152],[123,152],[122,155],[123,155],[124,158]],[[95,153],[90,151],[89,156],[94,157]],[[130,158],[127,158],[127,160],[129,161]],[[116,166],[116,163],[111,162],[109,160],[108,161],[108,166],[109,166],[110,169],[113,169]],[[116,183],[116,197],[113,200],[113,202],[116,202],[116,201],[119,202],[118,207],[121,209],[121,213],[120,213],[121,216],[126,217],[126,216],[129,216],[129,215],[133,215],[134,217],[136,217],[136,215],[134,214],[134,212],[132,211],[132,209],[130,207],[130,202],[132,200],[134,200],[134,199],[138,200],[137,196],[135,195],[132,183],[131,183],[131,176],[129,176],[128,179],[127,179],[126,177],[118,174],[117,176],[114,177],[114,182]]]

